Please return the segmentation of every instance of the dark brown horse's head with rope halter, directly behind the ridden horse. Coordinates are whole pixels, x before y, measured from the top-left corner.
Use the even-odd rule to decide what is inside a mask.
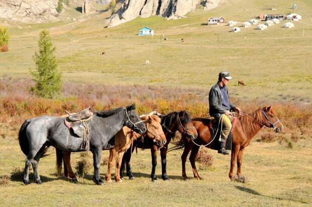
[[[190,137],[192,140],[196,139],[197,130],[192,124],[191,116],[187,111],[178,112],[176,124],[180,133],[187,137]]]

